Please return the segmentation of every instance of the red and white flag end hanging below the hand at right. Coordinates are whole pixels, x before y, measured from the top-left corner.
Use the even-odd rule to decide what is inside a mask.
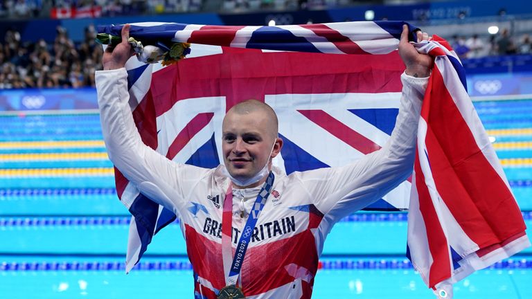
[[[443,297],[452,292],[452,283],[530,242],[465,89],[458,57],[442,39],[420,45],[418,51],[434,56],[435,63],[418,125],[409,256],[425,283]]]

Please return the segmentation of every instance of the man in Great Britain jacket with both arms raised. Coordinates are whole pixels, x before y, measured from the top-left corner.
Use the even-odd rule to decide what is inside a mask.
[[[387,145],[343,167],[283,174],[277,118],[263,102],[232,107],[222,123],[224,165],[169,161],[143,145],[128,105],[127,44],[107,48],[96,73],[109,158],[143,194],[175,212],[193,265],[195,298],[310,298],[323,242],[342,217],[380,199],[412,171],[416,129],[432,58],[403,28],[400,111]],[[427,40],[426,33],[418,39]],[[201,206],[199,212],[190,207]],[[234,253],[233,253],[234,251]]]

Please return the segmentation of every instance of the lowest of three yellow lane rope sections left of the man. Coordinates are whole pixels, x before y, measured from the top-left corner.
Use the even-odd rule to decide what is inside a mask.
[[[112,167],[98,168],[36,168],[36,169],[0,169],[0,176],[9,178],[35,176],[112,176]]]

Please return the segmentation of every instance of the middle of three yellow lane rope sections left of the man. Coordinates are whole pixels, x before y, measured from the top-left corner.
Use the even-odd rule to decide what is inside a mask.
[[[88,153],[39,153],[39,154],[0,154],[0,161],[71,161],[108,160],[105,152]]]

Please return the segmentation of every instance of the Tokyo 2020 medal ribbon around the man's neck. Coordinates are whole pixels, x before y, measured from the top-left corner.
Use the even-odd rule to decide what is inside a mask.
[[[242,229],[234,256],[233,248],[231,246],[233,239],[233,188],[232,184],[229,184],[229,188],[225,194],[224,210],[222,214],[222,257],[224,262],[224,274],[226,275],[225,282],[227,285],[236,285],[238,282],[238,276],[240,275],[240,270],[242,269],[242,263],[244,262],[247,246],[251,241],[251,235],[253,234],[253,230],[257,224],[258,215],[260,215],[260,211],[264,208],[269,191],[272,190],[274,179],[274,172],[269,172],[268,177],[263,184],[263,188],[261,188],[260,192],[258,192],[257,199],[255,199],[253,208],[251,208],[251,212],[249,213],[249,217],[247,218],[244,229]]]

